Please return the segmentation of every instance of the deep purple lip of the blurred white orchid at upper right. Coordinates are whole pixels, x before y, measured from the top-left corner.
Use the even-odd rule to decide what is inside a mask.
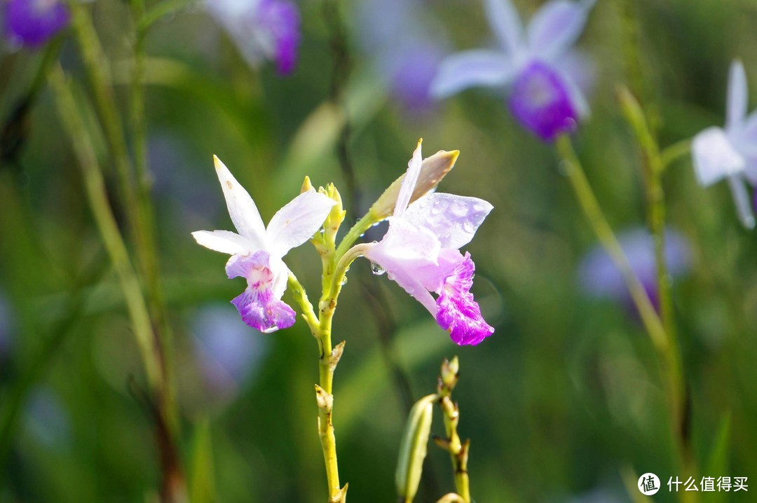
[[[578,113],[559,74],[547,64],[534,61],[513,82],[508,99],[512,115],[544,141],[572,132]]]

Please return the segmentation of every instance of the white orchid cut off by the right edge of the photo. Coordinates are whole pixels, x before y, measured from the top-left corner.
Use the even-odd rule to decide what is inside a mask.
[[[712,126],[699,132],[691,154],[699,185],[727,179],[741,222],[753,228],[755,216],[745,182],[757,185],[757,112],[746,115],[748,101],[743,64],[734,61],[728,76],[725,129]]]

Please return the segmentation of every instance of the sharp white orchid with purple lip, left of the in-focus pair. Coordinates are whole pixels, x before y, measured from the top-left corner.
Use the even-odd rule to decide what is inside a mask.
[[[289,275],[282,258],[318,231],[335,201],[311,188],[276,212],[266,227],[250,194],[218,157],[213,160],[238,234],[195,231],[192,236],[210,250],[231,255],[226,262],[229,279],[247,280],[247,289],[232,300],[246,324],[265,333],[291,327],[294,310],[281,300]]]

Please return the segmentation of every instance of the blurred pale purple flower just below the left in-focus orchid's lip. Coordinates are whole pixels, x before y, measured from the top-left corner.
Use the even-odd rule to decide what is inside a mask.
[[[208,386],[216,393],[234,393],[265,355],[266,339],[250,337],[222,306],[204,306],[194,321],[195,351]]]

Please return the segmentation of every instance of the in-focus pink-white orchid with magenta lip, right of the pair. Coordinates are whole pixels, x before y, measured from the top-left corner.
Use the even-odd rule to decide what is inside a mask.
[[[431,193],[410,203],[422,166],[419,142],[408,164],[389,228],[364,256],[387,272],[434,315],[457,344],[478,344],[494,332],[470,289],[475,265],[459,248],[468,244],[492,209],[476,197]],[[380,268],[380,269],[379,269]],[[435,300],[431,292],[438,295]]]

